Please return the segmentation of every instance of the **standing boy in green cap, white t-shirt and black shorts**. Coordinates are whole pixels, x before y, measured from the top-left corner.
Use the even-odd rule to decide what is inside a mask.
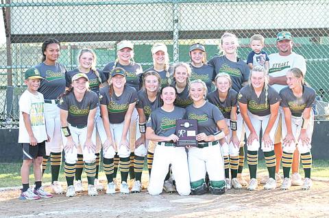
[[[40,72],[36,68],[29,68],[25,72],[27,90],[19,99],[19,144],[23,147],[23,165],[21,177],[23,189],[19,199],[37,200],[40,197],[53,197],[43,190],[41,186],[41,164],[42,156],[45,155],[45,141],[49,141],[46,132],[44,99],[40,92]],[[29,167],[33,163],[36,187],[29,188]]]

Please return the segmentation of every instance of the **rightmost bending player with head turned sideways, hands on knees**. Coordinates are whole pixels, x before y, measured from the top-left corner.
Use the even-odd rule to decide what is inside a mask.
[[[283,155],[282,166],[284,180],[281,189],[291,187],[290,168],[293,162],[293,152],[296,145],[305,172],[302,189],[310,189],[310,168],[312,154],[310,153],[313,135],[312,106],[315,103],[316,92],[305,85],[304,74],[299,68],[291,68],[286,74],[287,85],[280,91],[282,114]]]

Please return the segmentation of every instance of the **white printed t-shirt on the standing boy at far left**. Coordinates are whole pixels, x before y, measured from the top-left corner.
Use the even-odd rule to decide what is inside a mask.
[[[29,114],[32,131],[38,143],[47,140],[45,123],[45,100],[40,92],[32,94],[25,90],[19,98],[19,143],[29,143],[29,134],[25,128],[23,112]]]

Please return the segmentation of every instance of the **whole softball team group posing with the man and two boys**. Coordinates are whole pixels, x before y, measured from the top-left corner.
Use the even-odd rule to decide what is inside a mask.
[[[306,62],[293,52],[289,31],[277,34],[278,53],[267,54],[264,46],[264,37],[255,34],[249,55],[238,57],[239,40],[226,32],[220,55],[207,60],[204,44],[195,43],[191,62],[171,65],[166,44],[157,42],[150,51],[153,66],[143,69],[134,62],[134,44],[123,40],[117,59],[102,69],[92,49],[81,49],[77,68],[68,71],[58,62],[60,42],[45,40],[42,62],[25,71],[27,90],[19,99],[19,199],[73,197],[84,191],[83,171],[90,196],[143,189],[150,195],[221,195],[255,191],[259,183],[310,189],[316,92],[305,81]],[[177,120],[197,120],[196,146],[176,146]],[[258,150],[268,172],[260,180]],[[242,176],[245,156],[248,180]],[[48,162],[50,192],[42,186]],[[59,181],[61,165],[66,184]],[[100,165],[106,181],[99,179]]]

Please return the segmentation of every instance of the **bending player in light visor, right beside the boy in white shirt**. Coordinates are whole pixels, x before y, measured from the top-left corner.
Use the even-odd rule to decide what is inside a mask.
[[[88,90],[88,77],[80,72],[72,77],[72,87],[66,91],[58,103],[62,140],[65,150],[65,167],[67,189],[66,197],[75,195],[73,180],[77,162],[77,146],[81,146],[86,174],[88,178],[88,195],[98,195],[95,182],[95,114],[99,106],[98,96]]]

